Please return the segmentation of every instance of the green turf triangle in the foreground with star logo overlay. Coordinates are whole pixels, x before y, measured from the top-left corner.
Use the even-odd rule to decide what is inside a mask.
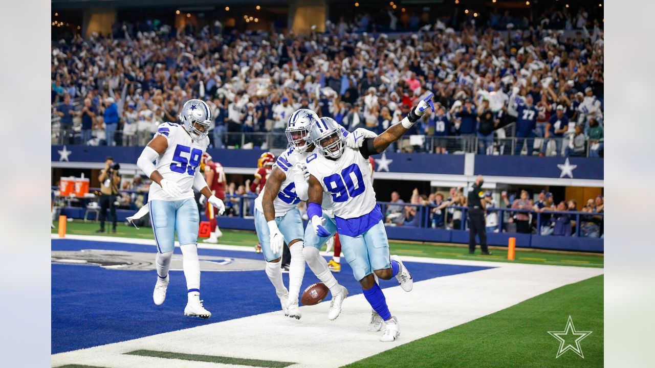
[[[569,315],[577,331],[593,331],[580,341],[584,359],[572,351],[555,359],[559,341],[548,331],[564,331]],[[439,318],[438,311],[426,313],[426,318]],[[574,341],[571,337],[567,343]],[[559,287],[500,312],[346,365],[398,366],[602,367],[603,276]]]

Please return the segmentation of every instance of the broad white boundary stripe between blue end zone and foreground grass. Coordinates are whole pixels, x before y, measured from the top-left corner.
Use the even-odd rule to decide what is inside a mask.
[[[413,258],[403,257],[407,261],[414,261]],[[424,258],[417,261],[458,265],[490,263]],[[390,310],[400,322],[402,334],[397,342],[379,342],[381,332],[366,331],[371,307],[359,294],[344,301],[341,316],[335,321],[327,320],[329,303],[324,302],[318,306],[301,306],[301,320],[286,318],[281,312],[259,314],[54,354],[52,365],[87,364],[112,368],[227,366],[123,355],[132,350],[149,349],[298,363],[293,367],[340,367],[508,308],[562,285],[603,274],[602,268],[520,263],[491,265],[496,268],[416,282],[411,293],[405,293],[399,286],[384,289]],[[238,301],[234,303],[238,305]],[[211,305],[207,307],[212,310]],[[183,305],[179,305],[179,318],[183,318],[182,308]]]

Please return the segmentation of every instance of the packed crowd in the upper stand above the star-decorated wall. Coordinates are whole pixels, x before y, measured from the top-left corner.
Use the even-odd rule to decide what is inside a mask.
[[[58,143],[145,145],[200,96],[215,110],[213,147],[243,132],[270,148],[253,133],[282,133],[299,107],[381,132],[434,93],[437,113],[408,133],[419,138],[390,149],[599,156],[603,31],[585,14],[493,13],[477,26],[469,15],[457,29],[450,16],[417,24],[408,14],[398,27],[416,31],[389,35],[377,29],[396,29],[393,18],[381,26],[367,14],[309,35],[116,24],[112,35],[52,46],[53,133]]]

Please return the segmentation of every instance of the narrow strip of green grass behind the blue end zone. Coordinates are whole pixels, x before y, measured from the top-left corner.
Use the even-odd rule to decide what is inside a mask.
[[[54,224],[56,226],[56,223]],[[118,224],[117,232],[95,234],[100,227],[98,223],[84,223],[82,221],[71,221],[67,223],[67,234],[80,235],[102,235],[121,236],[126,238],[154,239],[153,231],[149,227],[136,229],[134,226]],[[57,229],[52,229],[56,233]],[[220,244],[231,246],[254,247],[257,244],[257,235],[253,231],[238,231],[223,229],[223,237]],[[545,251],[521,251],[515,253],[515,260],[507,260],[505,249],[492,249],[492,255],[481,255],[479,248],[475,255],[468,254],[466,246],[443,246],[435,244],[415,244],[406,242],[390,242],[392,253],[398,255],[413,255],[417,257],[447,258],[447,259],[470,259],[475,261],[497,261],[514,263],[533,263],[538,265],[569,265],[582,267],[603,267],[603,255],[587,255],[576,253],[552,253]]]

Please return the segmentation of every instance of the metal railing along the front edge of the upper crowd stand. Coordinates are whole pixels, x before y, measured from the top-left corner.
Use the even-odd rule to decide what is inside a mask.
[[[53,120],[54,121],[54,120]],[[153,137],[153,132],[136,132],[133,135],[124,136],[122,130],[117,130],[114,142],[119,146],[144,146]],[[225,147],[232,149],[260,148],[267,150],[282,150],[288,147],[288,141],[284,133],[277,132],[224,132],[214,134],[212,130],[208,137],[212,147]],[[92,138],[98,138],[98,145],[106,145],[105,132],[92,132]],[[220,145],[217,144],[220,141]],[[389,146],[390,151],[396,152],[417,152],[417,153],[441,153],[441,149],[447,154],[476,153],[478,155],[540,155],[564,156],[570,138],[480,138],[477,136],[405,136]],[[84,144],[82,141],[81,124],[73,124],[72,128],[62,129],[59,124],[52,124],[52,144]],[[596,156],[592,155],[591,139],[586,139],[582,151],[571,151],[571,156]],[[544,147],[545,145],[545,147]],[[528,151],[531,149],[530,151]],[[599,151],[597,156],[603,156]]]

